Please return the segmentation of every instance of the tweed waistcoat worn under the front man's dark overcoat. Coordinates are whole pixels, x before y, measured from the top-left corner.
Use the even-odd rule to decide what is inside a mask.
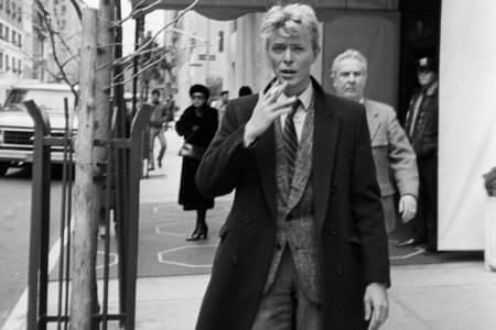
[[[298,279],[306,297],[322,301],[322,280],[317,262],[316,230],[313,220],[313,100],[309,107],[294,164],[292,183],[288,178],[282,125],[274,121],[277,177],[277,234],[265,294],[270,289],[285,249],[290,249]]]

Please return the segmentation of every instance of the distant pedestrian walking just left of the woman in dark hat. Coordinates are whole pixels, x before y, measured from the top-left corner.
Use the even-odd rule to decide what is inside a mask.
[[[169,114],[165,106],[160,102],[160,91],[158,89],[154,89],[152,91],[152,106],[153,112],[150,116],[148,170],[155,169],[154,152],[153,152],[155,138],[159,138],[160,141],[160,152],[159,156],[157,157],[159,167],[162,167],[163,155],[165,154],[165,150],[168,147],[164,132],[168,125]]]

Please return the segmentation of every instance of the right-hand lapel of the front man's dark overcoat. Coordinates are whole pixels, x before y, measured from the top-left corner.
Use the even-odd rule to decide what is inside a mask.
[[[341,116],[339,112],[328,105],[321,88],[315,88],[315,92],[312,183],[314,187],[315,221],[317,229],[321,230],[324,224],[331,194]]]

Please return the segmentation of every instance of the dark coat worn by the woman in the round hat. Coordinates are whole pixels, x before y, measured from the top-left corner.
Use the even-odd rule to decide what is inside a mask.
[[[200,112],[202,117],[196,116],[193,106],[186,108],[175,123],[175,130],[188,143],[207,147],[218,129],[217,110],[205,105]],[[194,127],[198,127],[198,129],[193,132]],[[200,161],[183,157],[179,204],[183,206],[184,210],[212,209],[214,207],[214,199],[203,197],[196,188],[195,175],[198,166]]]

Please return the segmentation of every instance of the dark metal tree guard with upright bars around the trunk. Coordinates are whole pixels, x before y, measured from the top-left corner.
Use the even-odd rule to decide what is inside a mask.
[[[73,138],[69,136],[68,116],[64,134],[51,134],[50,119],[33,101],[24,102],[34,121],[34,150],[32,175],[32,210],[29,260],[29,294],[26,323],[29,330],[45,330],[47,323],[56,323],[57,329],[67,329],[71,322],[71,218],[73,188]],[[67,110],[67,102],[65,105]],[[68,111],[66,111],[68,113]],[[98,164],[105,175],[96,180],[105,180],[105,242],[103,295],[99,311],[93,316],[95,329],[106,330],[109,322],[118,321],[126,330],[134,329],[136,278],[138,257],[139,186],[141,177],[141,136],[150,117],[151,107],[145,105],[131,125],[130,138],[111,138],[94,141],[95,147],[105,147],[107,161]],[[119,116],[110,118],[119,118]],[[111,131],[109,123],[109,132]],[[60,133],[60,132],[58,132]],[[48,253],[50,253],[50,191],[51,152],[63,150],[62,200],[60,220],[58,272],[53,283],[57,285],[56,311],[48,312]],[[117,277],[119,282],[119,310],[109,312],[109,267],[111,211],[116,228],[119,255]],[[54,274],[52,274],[54,275]],[[53,277],[53,276],[52,276]]]

